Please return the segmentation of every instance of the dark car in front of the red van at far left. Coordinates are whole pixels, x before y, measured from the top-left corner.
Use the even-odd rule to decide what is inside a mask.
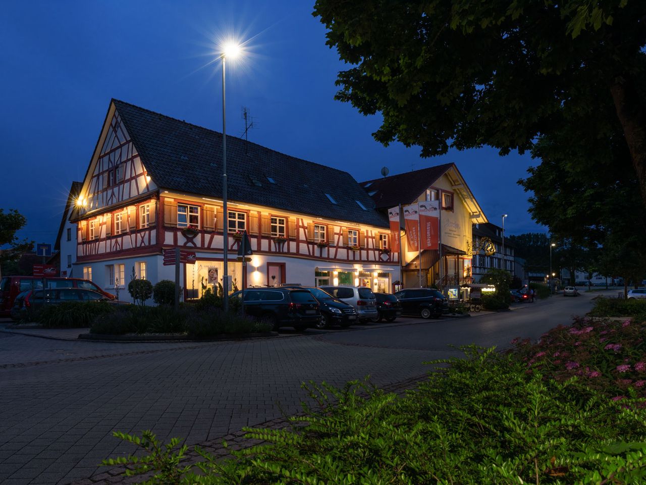
[[[46,288],[28,290],[14,300],[11,316],[18,320],[31,320],[45,305],[60,305],[63,302],[105,301],[110,305],[130,305],[127,301],[111,299],[94,290],[85,288]]]

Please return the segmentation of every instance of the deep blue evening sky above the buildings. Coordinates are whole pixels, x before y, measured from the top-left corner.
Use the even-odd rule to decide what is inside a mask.
[[[530,219],[528,155],[490,148],[420,158],[383,147],[364,117],[333,100],[346,69],[325,45],[313,0],[9,1],[0,16],[0,208],[16,208],[19,233],[54,242],[72,180],[82,180],[110,98],[222,131],[222,66],[216,41],[251,39],[227,63],[227,133],[241,135],[242,106],[258,125],[249,140],[348,171],[357,180],[455,162],[491,222],[543,232]],[[307,174],[303,174],[307,177]]]

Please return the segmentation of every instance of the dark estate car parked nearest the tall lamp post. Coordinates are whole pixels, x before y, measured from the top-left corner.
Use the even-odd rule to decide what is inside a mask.
[[[231,298],[242,297],[242,291]],[[305,330],[320,322],[318,301],[307,290],[292,288],[249,288],[244,290],[244,307],[247,315],[270,321],[274,330],[294,327]]]

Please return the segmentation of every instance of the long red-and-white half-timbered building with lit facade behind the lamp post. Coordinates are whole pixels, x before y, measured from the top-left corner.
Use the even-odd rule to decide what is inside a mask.
[[[399,254],[388,220],[349,175],[227,136],[228,227],[222,211],[222,134],[112,100],[76,201],[77,269],[128,299],[134,270],[174,279],[163,250],[196,253],[182,264],[186,299],[222,279],[223,245],[234,286],[354,284],[391,291]],[[236,261],[240,233],[254,255]]]

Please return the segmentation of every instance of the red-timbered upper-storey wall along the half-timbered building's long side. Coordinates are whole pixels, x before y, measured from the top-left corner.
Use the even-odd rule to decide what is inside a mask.
[[[164,248],[182,246],[191,250],[204,252],[221,252],[224,240],[224,217],[222,206],[217,201],[185,199],[179,195],[160,197],[160,227],[158,241]],[[178,205],[193,206],[198,209],[198,228],[182,227],[178,221]],[[379,234],[386,229],[362,229],[359,226],[346,225],[342,222],[319,221],[306,219],[300,215],[289,215],[275,211],[262,212],[249,208],[229,205],[229,212],[245,215],[245,230],[249,235],[252,249],[258,254],[280,254],[321,261],[386,263],[396,264],[399,255],[382,252],[379,248]],[[183,213],[182,213],[183,215]],[[271,235],[271,218],[285,219],[285,241],[276,241]],[[231,218],[229,218],[231,221]],[[326,228],[326,238],[322,244],[314,240],[314,224]],[[357,231],[358,248],[348,247],[348,230]],[[238,250],[239,240],[233,232],[227,234],[229,252]]]

